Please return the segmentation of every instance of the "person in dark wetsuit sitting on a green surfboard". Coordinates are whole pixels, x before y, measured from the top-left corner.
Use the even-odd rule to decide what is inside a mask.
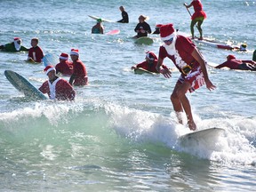
[[[139,23],[137,24],[136,28],[134,28],[134,31],[137,33],[137,36],[133,36],[134,38],[140,38],[141,36],[148,36],[148,34],[151,33],[151,28],[145,20],[148,20],[148,17],[144,15],[140,15]]]

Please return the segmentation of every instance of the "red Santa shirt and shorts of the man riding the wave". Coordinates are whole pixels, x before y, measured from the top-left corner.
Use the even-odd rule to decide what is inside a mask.
[[[204,84],[204,75],[200,68],[200,64],[192,56],[192,52],[195,50],[196,45],[185,36],[177,36],[176,42],[173,42],[174,49],[172,53],[166,51],[166,45],[162,45],[159,48],[159,58],[164,60],[168,57],[172,60],[174,65],[180,70],[179,82],[183,83],[187,81],[191,84],[189,92],[194,92],[200,86]]]

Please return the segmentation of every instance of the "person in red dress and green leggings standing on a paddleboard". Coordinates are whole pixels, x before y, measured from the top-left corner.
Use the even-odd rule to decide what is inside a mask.
[[[194,14],[191,16],[191,24],[190,24],[190,31],[192,35],[192,39],[194,39],[194,27],[197,23],[197,29],[199,31],[200,37],[199,40],[203,40],[203,30],[201,28],[204,19],[206,19],[206,13],[203,11],[203,4],[201,4],[200,0],[193,0],[191,4],[184,4],[187,9],[191,6],[194,7]]]

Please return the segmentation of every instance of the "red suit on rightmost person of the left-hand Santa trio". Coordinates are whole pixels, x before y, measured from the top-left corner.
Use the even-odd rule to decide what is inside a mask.
[[[73,62],[73,74],[75,76],[74,85],[85,85],[87,84],[87,71],[84,63],[81,60]]]

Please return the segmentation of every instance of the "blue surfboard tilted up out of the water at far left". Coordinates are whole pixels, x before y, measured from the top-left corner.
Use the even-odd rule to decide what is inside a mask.
[[[8,79],[8,81],[19,91],[23,92],[24,95],[29,100],[47,100],[48,98],[40,92],[36,87],[28,82],[28,80],[20,76],[20,74],[12,71],[12,70],[5,70],[4,76]]]

